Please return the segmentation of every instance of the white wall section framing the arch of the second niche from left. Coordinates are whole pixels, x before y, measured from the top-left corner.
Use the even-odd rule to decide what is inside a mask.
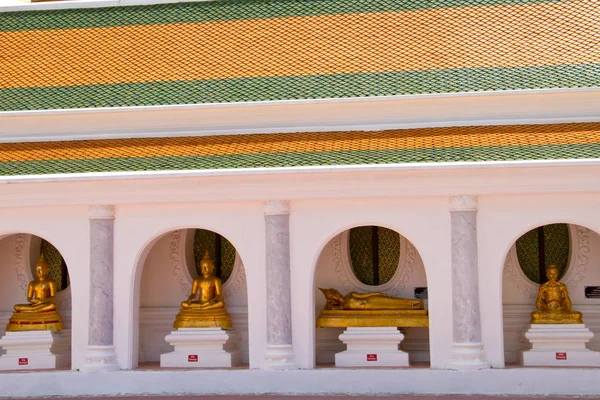
[[[262,202],[206,202],[185,204],[161,204],[152,206],[117,206],[115,218],[115,349],[123,369],[137,366],[139,351],[139,323],[170,319],[162,313],[149,315],[150,307],[140,310],[140,289],[144,291],[142,275],[144,265],[156,271],[162,265],[167,237],[179,229],[202,228],[226,237],[236,248],[243,262],[248,292],[248,332],[250,368],[260,368],[263,363],[266,326],[265,287],[265,232]],[[155,245],[158,253],[153,253]],[[162,249],[162,250],[161,250]],[[157,254],[161,254],[157,256]],[[167,253],[168,254],[168,253]],[[175,305],[183,299],[176,285],[167,284],[170,297],[168,304]],[[161,286],[162,288],[162,286]],[[154,288],[154,290],[159,290]],[[160,289],[162,292],[162,289]],[[150,302],[161,292],[144,293],[146,305],[156,307],[161,303]],[[160,294],[157,294],[160,293]],[[178,301],[175,300],[177,297]],[[155,298],[155,297],[154,297]],[[144,300],[145,299],[145,300]],[[167,303],[165,303],[167,304]],[[232,315],[243,320],[242,303],[232,302]],[[241,304],[241,305],[240,305]],[[228,304],[229,308],[229,304]],[[168,311],[170,312],[170,311]],[[174,314],[173,314],[174,317]],[[151,322],[148,322],[151,323]],[[172,323],[172,320],[171,320]],[[243,325],[242,329],[245,329]],[[144,327],[146,329],[146,327]],[[162,333],[161,333],[162,334]],[[157,339],[156,339],[157,340]],[[164,337],[163,337],[164,340]]]

